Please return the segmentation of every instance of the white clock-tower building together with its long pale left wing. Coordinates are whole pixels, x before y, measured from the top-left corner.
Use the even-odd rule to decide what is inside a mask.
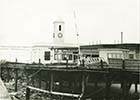
[[[72,62],[72,53],[66,53],[65,50],[58,50],[58,48],[78,48],[77,44],[70,44],[64,42],[64,27],[65,23],[62,20],[54,21],[53,43],[50,44],[36,44],[31,47],[23,46],[1,46],[0,60],[22,63],[61,63],[65,62],[64,57],[69,55],[69,62]]]

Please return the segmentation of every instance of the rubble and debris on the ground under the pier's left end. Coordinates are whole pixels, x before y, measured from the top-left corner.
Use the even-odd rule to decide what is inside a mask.
[[[9,80],[9,82],[5,82],[5,86],[10,93],[12,100],[26,100],[26,86],[27,82],[23,78],[18,80],[18,91],[15,92],[15,80]],[[45,93],[40,93],[38,91],[31,91],[30,100],[50,100],[49,96]]]

